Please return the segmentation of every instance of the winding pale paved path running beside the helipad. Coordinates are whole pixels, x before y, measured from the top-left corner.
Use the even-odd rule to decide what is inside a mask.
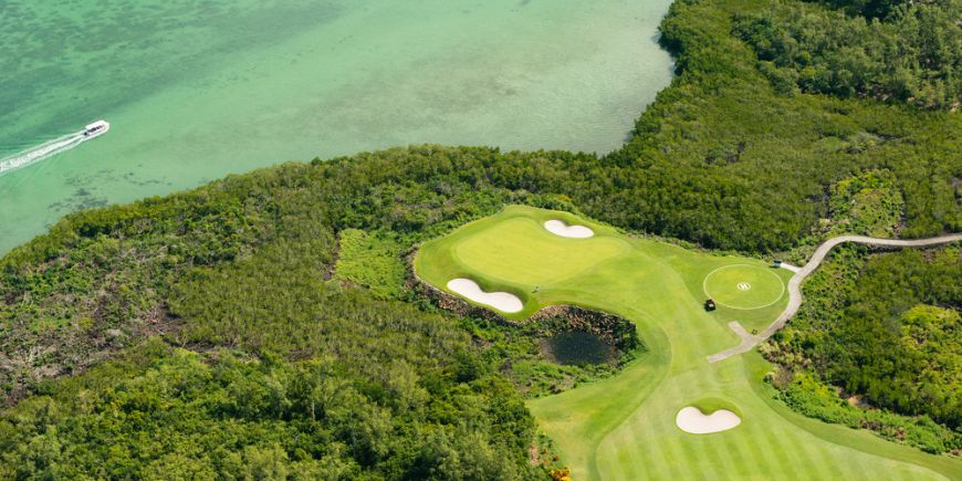
[[[815,254],[812,255],[812,259],[805,264],[804,268],[799,269],[795,275],[788,281],[788,305],[785,306],[785,310],[782,311],[782,314],[778,315],[778,318],[775,320],[765,331],[762,331],[757,335],[749,335],[745,333],[745,330],[738,323],[729,323],[729,327],[732,328],[740,337],[742,337],[741,344],[735,347],[722,351],[721,353],[712,354],[708,356],[709,363],[717,363],[722,359],[728,359],[735,354],[747,353],[763,341],[772,337],[773,334],[778,332],[782,327],[785,327],[785,324],[791,320],[795,313],[798,312],[798,307],[802,306],[802,282],[807,278],[812,272],[818,269],[818,265],[822,264],[822,261],[825,260],[825,257],[828,255],[828,252],[832,251],[836,245],[845,242],[856,242],[866,245],[876,245],[882,248],[923,248],[929,245],[939,245],[945,244],[949,242],[962,241],[962,233],[954,233],[949,236],[940,236],[933,237],[929,239],[913,239],[913,240],[895,240],[895,239],[878,239],[874,237],[864,237],[864,236],[840,236],[836,238],[832,238],[825,241],[818,249],[815,250]],[[733,326],[738,325],[738,327]]]

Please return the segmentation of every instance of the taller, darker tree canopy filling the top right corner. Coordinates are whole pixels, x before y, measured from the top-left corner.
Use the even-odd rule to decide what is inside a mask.
[[[736,34],[776,90],[958,108],[962,1],[784,2],[739,18]]]

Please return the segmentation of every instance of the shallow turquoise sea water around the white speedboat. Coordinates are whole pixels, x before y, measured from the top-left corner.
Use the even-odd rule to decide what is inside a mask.
[[[0,0],[0,253],[71,211],[399,145],[618,147],[670,0]],[[112,128],[61,146],[85,124]],[[35,151],[34,151],[35,154]]]

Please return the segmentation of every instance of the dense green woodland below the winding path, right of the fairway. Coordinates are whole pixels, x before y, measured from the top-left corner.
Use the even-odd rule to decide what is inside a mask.
[[[805,284],[798,315],[763,346],[782,365],[780,397],[927,451],[962,449],[960,279],[959,247],[839,248]]]

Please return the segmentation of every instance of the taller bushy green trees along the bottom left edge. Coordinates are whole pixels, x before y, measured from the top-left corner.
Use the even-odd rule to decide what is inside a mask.
[[[533,422],[512,386],[470,355],[428,367],[407,338],[394,360],[368,360],[373,376],[330,356],[143,346],[0,421],[0,477],[535,477],[523,462]]]

